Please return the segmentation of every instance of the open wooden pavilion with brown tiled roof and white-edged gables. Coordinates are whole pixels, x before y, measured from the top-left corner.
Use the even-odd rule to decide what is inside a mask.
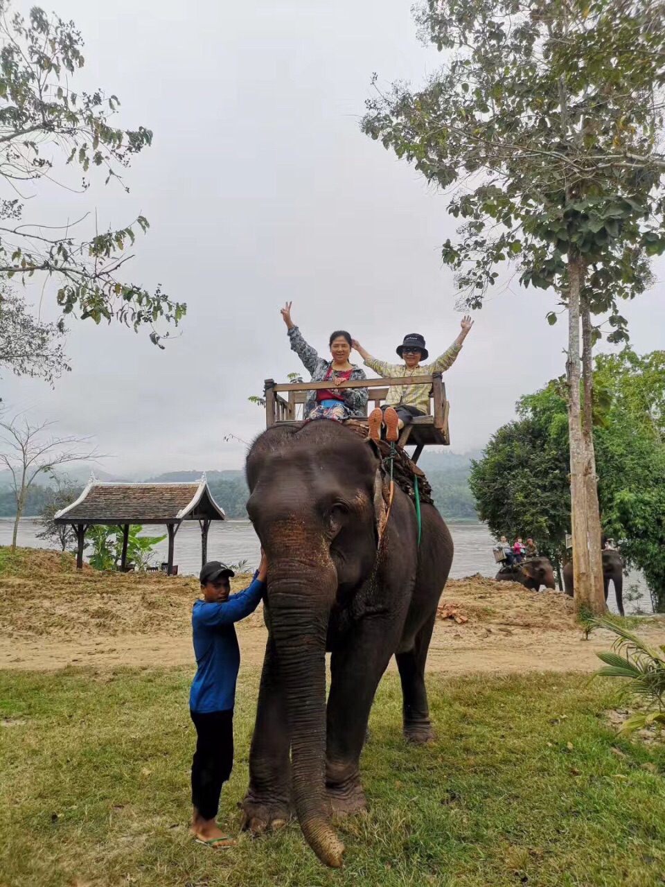
[[[163,523],[168,532],[167,575],[173,574],[176,532],[183,521],[201,528],[201,566],[207,561],[207,531],[212,521],[226,515],[210,492],[206,476],[195,483],[103,483],[94,475],[81,496],[53,518],[70,523],[78,539],[76,566],[83,566],[83,538],[92,524],[122,528],[121,570],[127,568],[129,527],[132,523]]]

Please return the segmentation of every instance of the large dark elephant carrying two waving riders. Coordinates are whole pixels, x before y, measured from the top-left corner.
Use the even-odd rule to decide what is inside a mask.
[[[268,559],[269,636],[242,826],[278,828],[294,810],[305,840],[332,867],[344,847],[331,813],[365,807],[359,758],[392,655],[404,736],[434,736],[424,672],[453,544],[426,504],[418,541],[416,509],[396,484],[386,514],[380,464],[375,444],[328,419],[274,425],[246,459],[247,513]]]

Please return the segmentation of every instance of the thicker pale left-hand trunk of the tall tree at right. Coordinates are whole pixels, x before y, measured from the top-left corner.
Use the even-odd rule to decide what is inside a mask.
[[[580,294],[584,276],[583,262],[579,257],[568,260],[568,436],[570,440],[570,505],[571,531],[573,535],[573,581],[575,585],[575,609],[591,610],[592,613],[605,612],[605,599],[602,583],[596,587],[591,570],[590,546],[595,540],[590,536],[589,513],[591,503],[587,502],[586,471],[589,468],[589,449],[583,436],[582,411],[580,403]],[[595,471],[593,473],[595,481]],[[598,500],[596,500],[598,501]],[[590,507],[591,506],[591,507]],[[599,522],[598,506],[596,523]],[[593,523],[593,520],[591,520]],[[600,552],[600,538],[598,538]],[[602,577],[602,571],[600,574]],[[598,594],[599,592],[599,594]]]

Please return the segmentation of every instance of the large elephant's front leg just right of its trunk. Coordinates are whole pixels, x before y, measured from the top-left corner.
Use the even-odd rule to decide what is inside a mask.
[[[395,625],[365,619],[332,651],[327,707],[325,786],[332,809],[354,813],[366,806],[360,781],[360,753],[367,721],[397,643]]]

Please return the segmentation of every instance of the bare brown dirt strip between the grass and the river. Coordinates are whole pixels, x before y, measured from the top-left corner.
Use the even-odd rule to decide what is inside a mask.
[[[236,577],[234,590],[249,578]],[[24,549],[0,572],[0,668],[193,666],[190,616],[198,593],[195,577],[87,567],[77,573],[66,555]],[[665,618],[645,620],[639,633],[653,645],[665,643]],[[243,666],[259,666],[267,636],[261,608],[238,625],[238,635]],[[427,670],[593,671],[596,652],[612,640],[601,631],[583,640],[572,600],[562,593],[481,576],[451,579]]]

